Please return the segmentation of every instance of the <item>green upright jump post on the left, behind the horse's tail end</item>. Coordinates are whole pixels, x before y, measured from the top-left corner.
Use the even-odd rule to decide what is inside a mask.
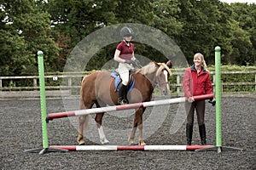
[[[46,122],[46,97],[45,97],[45,84],[44,84],[44,58],[43,52],[38,51],[38,74],[40,85],[40,102],[41,102],[41,122],[43,134],[43,148],[48,148],[48,129]]]

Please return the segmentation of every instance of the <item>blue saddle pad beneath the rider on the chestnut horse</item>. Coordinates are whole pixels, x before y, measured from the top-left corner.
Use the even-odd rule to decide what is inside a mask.
[[[113,79],[114,79],[114,82],[113,82],[114,91],[118,92],[119,88],[121,86],[121,83],[122,83],[122,79],[119,76],[119,72],[118,71],[112,71],[111,72],[111,77],[113,77]],[[135,78],[133,77],[133,75],[131,74],[131,71],[130,71],[129,72],[129,82],[127,84],[127,92],[130,92],[132,90],[132,88],[134,88],[134,85],[135,85]]]

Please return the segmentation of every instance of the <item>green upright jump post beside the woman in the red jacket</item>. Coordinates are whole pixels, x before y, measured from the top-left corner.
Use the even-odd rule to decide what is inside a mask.
[[[220,47],[215,48],[216,146],[222,147]]]

